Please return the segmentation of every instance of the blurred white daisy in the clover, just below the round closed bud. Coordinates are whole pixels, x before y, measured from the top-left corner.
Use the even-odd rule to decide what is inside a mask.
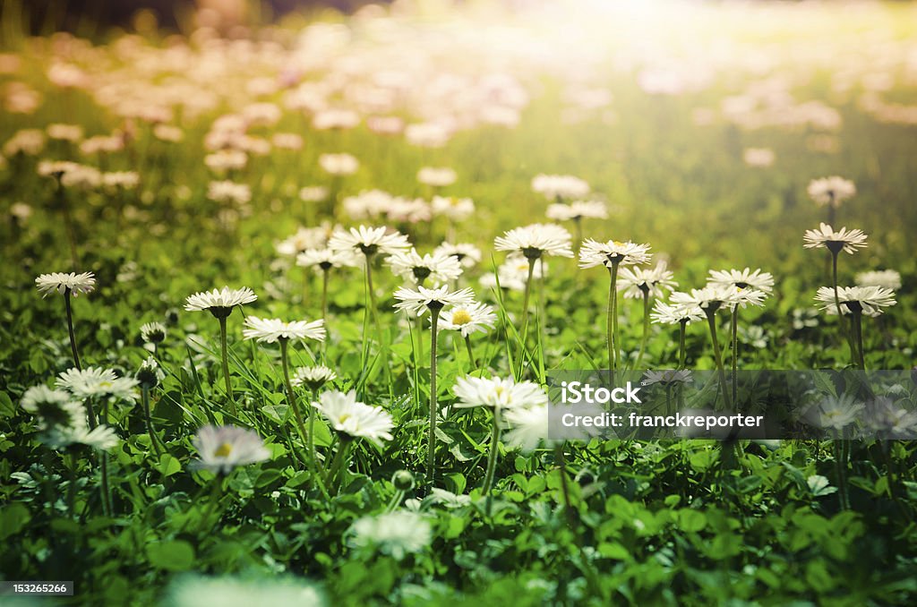
[[[433,530],[422,514],[396,510],[364,516],[351,525],[348,544],[355,548],[374,548],[396,560],[423,552],[433,541]]]

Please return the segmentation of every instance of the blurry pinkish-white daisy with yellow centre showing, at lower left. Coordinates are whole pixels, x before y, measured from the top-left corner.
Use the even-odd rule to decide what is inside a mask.
[[[199,458],[193,466],[216,474],[228,474],[237,466],[271,458],[271,452],[256,432],[235,425],[204,425],[192,443]]]

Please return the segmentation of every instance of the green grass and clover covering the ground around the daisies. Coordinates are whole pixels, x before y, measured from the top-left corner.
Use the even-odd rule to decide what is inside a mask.
[[[914,31],[893,18],[911,12],[877,7],[863,17],[863,27],[878,28],[882,39],[903,41],[912,49]],[[856,19],[823,18],[843,26],[839,40],[856,40]],[[124,127],[123,119],[94,103],[91,92],[54,88],[45,75],[54,59],[50,39],[28,41],[27,52],[22,46],[27,41],[14,35],[11,19],[7,14],[5,31],[12,34],[6,44],[22,66],[0,74],[0,91],[9,83],[27,83],[43,95],[43,103],[29,115],[0,113],[0,141],[19,129],[55,122],[79,124],[87,136]],[[748,48],[767,42],[798,49],[805,39],[788,28],[784,34],[762,33],[751,23]],[[136,65],[117,55],[116,35],[100,40],[100,54],[91,58],[77,47],[78,62],[95,74],[116,73],[114,81],[132,78]],[[161,39],[143,44],[155,57],[166,48]],[[895,86],[885,98],[917,103],[917,90],[900,74],[897,57],[889,59]],[[815,290],[830,280],[828,253],[802,248],[804,230],[825,217],[808,199],[806,186],[813,178],[838,174],[856,182],[857,194],[839,209],[837,223],[869,235],[867,249],[841,259],[841,283],[852,284],[858,271],[886,268],[899,270],[903,281],[897,305],[878,319],[866,319],[867,368],[910,369],[917,343],[912,287],[917,279],[912,237],[917,127],[879,122],[856,105],[856,94],[834,103],[832,71],[844,65],[790,57],[780,59],[777,70],[806,76],[790,87],[798,101],[827,99],[840,112],[843,127],[830,134],[835,153],[810,148],[817,134],[811,127],[745,130],[723,119],[695,125],[694,110],[718,108],[724,97],[755,80],[739,70],[718,74],[701,91],[665,96],[646,94],[633,72],[597,69],[590,83],[613,93],[610,108],[617,119],[604,121],[602,112],[595,112],[580,124],[565,125],[564,74],[529,66],[518,75],[533,99],[518,127],[459,131],[443,149],[416,148],[364,126],[315,131],[304,116],[285,112],[276,126],[254,127],[250,134],[298,132],[305,139],[303,151],[252,156],[246,169],[235,172],[231,179],[251,186],[252,202],[226,228],[217,218],[221,205],[206,197],[212,174],[204,166],[204,135],[216,116],[242,103],[244,94],[237,98],[234,92],[243,91],[248,79],[276,76],[282,67],[240,64],[226,77],[214,108],[183,120],[180,144],[153,138],[151,126],[136,121],[136,138],[126,151],[105,159],[105,170],[138,171],[138,190],[122,193],[121,200],[101,190],[66,191],[79,257],[75,266],[54,182],[37,175],[37,163],[72,158],[98,165],[98,159],[80,157],[56,142],[38,157],[8,158],[0,170],[3,577],[73,579],[77,596],[72,602],[81,604],[155,603],[188,571],[308,579],[330,604],[353,605],[914,601],[917,485],[911,479],[917,458],[911,442],[850,443],[849,510],[831,491],[839,479],[830,441],[794,440],[773,450],[743,444],[734,467],[722,465],[726,451],[715,441],[570,443],[566,477],[550,448],[529,455],[501,448],[488,500],[481,483],[490,413],[450,408],[452,386],[470,365],[464,344],[446,331],[438,342],[437,391],[449,414],[437,429],[437,476],[442,488],[470,495],[470,502],[447,508],[424,498],[421,488],[407,491],[405,499],[415,501],[402,507],[413,503],[425,514],[432,543],[403,559],[352,546],[351,525],[361,516],[382,513],[392,501],[392,475],[400,469],[418,479],[423,475],[429,332],[423,333],[425,355],[417,353],[415,359],[415,327],[412,336],[392,308],[392,292],[401,282],[378,265],[373,280],[386,347],[380,347],[371,319],[370,342],[364,343],[360,270],[332,275],[324,361],[337,372],[335,388],[355,388],[363,401],[392,414],[394,436],[382,447],[357,443],[341,491],[330,498],[297,456],[304,446],[283,394],[279,349],[241,336],[243,315],[284,320],[319,315],[320,277],[276,264],[273,246],[320,218],[319,210],[296,193],[305,185],[329,185],[318,168],[321,153],[347,151],[359,159],[360,169],[342,180],[342,195],[379,188],[427,196],[414,175],[429,165],[455,169],[458,182],[447,193],[475,201],[477,211],[458,225],[457,240],[479,246],[484,259],[461,284],[473,287],[498,313],[495,330],[472,337],[481,361],[476,374],[544,382],[552,370],[606,364],[604,270],[579,270],[573,260],[548,259],[544,291],[536,281],[532,296],[533,307],[536,302],[543,307],[530,317],[525,347],[514,325],[522,293],[498,298],[478,283],[503,260],[492,251],[493,237],[545,221],[547,202],[530,190],[539,172],[569,173],[589,182],[612,212],[605,221],[587,222],[585,236],[650,243],[657,256],[668,256],[680,289],[701,287],[711,269],[750,266],[773,273],[774,295],[764,308],[742,315],[742,330],[759,327],[766,347],[743,338],[740,369],[843,369],[851,360],[833,318],[816,315],[817,325],[807,328],[792,324],[794,311],[812,308]],[[862,76],[870,66],[854,67]],[[161,83],[165,77],[149,80]],[[280,104],[282,94],[266,100]],[[742,151],[749,147],[773,149],[775,164],[747,167]],[[17,203],[28,204],[28,220],[10,215]],[[342,223],[359,224],[347,218]],[[423,251],[446,234],[442,219],[399,227]],[[39,442],[33,416],[18,404],[28,387],[50,385],[72,367],[61,297],[42,299],[34,288],[40,273],[71,270],[93,271],[98,283],[96,291],[73,302],[84,366],[131,375],[150,354],[139,326],[160,321],[168,327],[158,353],[166,378],[151,396],[165,454],[154,454],[139,407],[113,407],[112,425],[121,440],[109,452],[110,515],[101,510],[92,454],[77,460],[76,513],[68,510],[69,458]],[[191,293],[223,284],[259,293],[256,303],[228,319],[238,419],[226,414],[215,319],[182,309]],[[642,305],[620,302],[624,359],[631,360],[642,336]],[[728,357],[725,321],[722,316],[721,342]],[[714,368],[709,340],[703,323],[689,327],[690,369]],[[363,359],[364,347],[369,362]],[[294,368],[320,358],[317,348],[298,343],[290,354]],[[677,357],[677,327],[651,326],[646,366],[671,368]],[[305,403],[309,395],[300,392],[298,398]],[[236,469],[226,479],[194,470],[191,439],[208,422],[253,428],[271,450],[270,460]],[[323,456],[333,457],[336,441],[335,432],[319,422],[315,442]],[[812,480],[818,476],[828,481],[827,489]],[[567,500],[572,512],[565,511]]]

